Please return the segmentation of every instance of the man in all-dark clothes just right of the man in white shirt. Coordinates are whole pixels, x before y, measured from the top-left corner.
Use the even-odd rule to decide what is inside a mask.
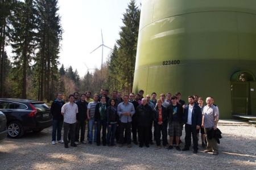
[[[85,126],[86,126],[86,119],[87,119],[86,111],[87,111],[88,103],[85,101],[85,99],[86,99],[86,95],[82,94],[81,100],[76,102],[77,107],[79,109],[79,113],[77,113],[77,115],[76,115],[76,120],[77,120],[76,135],[75,135],[76,145],[79,143],[80,129],[81,129],[80,142],[82,144],[86,144],[86,142],[84,141],[84,135],[85,135]]]

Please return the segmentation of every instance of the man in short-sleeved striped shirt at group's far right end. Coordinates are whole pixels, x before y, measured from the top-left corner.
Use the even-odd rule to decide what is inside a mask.
[[[211,129],[217,129],[217,122],[218,122],[218,108],[213,105],[212,97],[207,97],[207,105],[205,105],[203,109],[203,119],[202,119],[202,127],[205,131],[205,136],[207,138],[207,150],[204,152],[212,152],[213,155],[218,155],[218,145],[215,138],[209,139],[208,138],[208,131]]]

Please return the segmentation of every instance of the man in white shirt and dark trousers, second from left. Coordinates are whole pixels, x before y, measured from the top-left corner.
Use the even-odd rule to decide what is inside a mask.
[[[69,102],[64,104],[61,108],[61,114],[64,117],[64,146],[68,148],[68,131],[71,134],[71,146],[76,147],[75,133],[76,133],[76,114],[78,113],[78,107],[74,103],[74,95],[68,96]]]

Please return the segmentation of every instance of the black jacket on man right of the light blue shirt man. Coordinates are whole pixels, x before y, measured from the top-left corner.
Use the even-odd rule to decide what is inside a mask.
[[[136,121],[138,126],[150,126],[150,122],[153,119],[153,113],[154,111],[151,109],[151,107],[146,105],[139,105],[136,108]]]

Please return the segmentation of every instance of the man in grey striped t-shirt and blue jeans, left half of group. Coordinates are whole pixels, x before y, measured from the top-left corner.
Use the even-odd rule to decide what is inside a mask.
[[[87,106],[87,118],[89,121],[89,144],[93,141],[93,127],[94,127],[94,142],[97,142],[97,126],[94,122],[95,108],[98,103],[98,94],[93,96],[93,100]]]

